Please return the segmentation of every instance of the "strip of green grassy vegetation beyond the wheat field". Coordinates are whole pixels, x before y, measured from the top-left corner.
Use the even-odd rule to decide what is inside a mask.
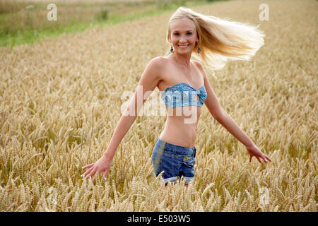
[[[94,26],[113,25],[144,16],[174,11],[179,6],[213,4],[221,0],[148,0],[58,3],[57,20],[47,20],[47,5],[28,1],[0,1],[0,46],[30,44],[43,37],[82,32]]]

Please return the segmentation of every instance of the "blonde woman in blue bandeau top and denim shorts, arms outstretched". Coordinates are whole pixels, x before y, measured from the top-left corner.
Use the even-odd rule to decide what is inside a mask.
[[[245,145],[249,162],[253,156],[260,163],[261,160],[271,161],[220,106],[202,65],[213,71],[222,69],[228,59],[248,60],[264,44],[264,34],[251,25],[204,16],[190,8],[179,7],[169,20],[167,42],[170,54],[155,57],[148,63],[126,112],[114,129],[107,150],[97,162],[83,167],[88,170],[82,177],[88,179],[95,174],[94,182],[96,174],[103,173],[106,178],[119,143],[134,123],[148,93],[156,87],[166,105],[167,120],[151,159],[155,175],[158,177],[163,172],[166,185],[183,178],[187,186],[194,179],[194,144],[203,104]],[[142,100],[139,97],[143,97]]]

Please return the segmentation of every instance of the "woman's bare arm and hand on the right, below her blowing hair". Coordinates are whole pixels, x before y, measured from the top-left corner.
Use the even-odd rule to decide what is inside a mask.
[[[247,148],[247,152],[249,153],[249,162],[252,161],[253,156],[255,156],[260,163],[260,159],[263,159],[264,162],[267,162],[267,160],[271,161],[271,159],[267,155],[261,153],[261,150],[259,150],[257,145],[255,145],[254,142],[251,140],[251,138],[249,138],[249,136],[247,136],[247,134],[242,131],[240,126],[238,126],[237,123],[232,119],[232,117],[230,117],[230,114],[225,112],[225,110],[220,106],[218,97],[216,97],[216,94],[214,93],[208,81],[208,77],[206,76],[204,67],[201,65],[201,63],[199,63],[199,61],[196,61],[196,65],[199,67],[201,73],[204,76],[204,86],[206,87],[206,93],[208,95],[208,97],[206,98],[206,102],[204,103],[212,116],[233,136],[235,136],[238,141],[245,145],[245,147]]]

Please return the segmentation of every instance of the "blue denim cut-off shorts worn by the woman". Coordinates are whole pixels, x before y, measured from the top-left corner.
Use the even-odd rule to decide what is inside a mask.
[[[151,155],[155,177],[164,171],[162,177],[165,183],[177,182],[177,179],[183,177],[184,184],[189,184],[194,179],[195,157],[195,146],[187,148],[167,143],[158,138]]]

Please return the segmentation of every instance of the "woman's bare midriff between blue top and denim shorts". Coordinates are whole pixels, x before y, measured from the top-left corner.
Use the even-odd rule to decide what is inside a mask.
[[[159,138],[167,143],[194,148],[201,107],[167,107],[165,128]]]

